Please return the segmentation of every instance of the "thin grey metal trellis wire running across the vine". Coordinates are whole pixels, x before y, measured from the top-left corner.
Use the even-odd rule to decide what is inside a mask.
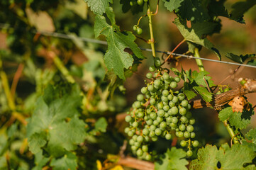
[[[11,28],[9,27],[8,24],[5,23],[0,23],[0,28]],[[62,33],[56,33],[56,32],[48,32],[48,31],[34,31],[35,34],[40,34],[40,35],[45,35],[45,36],[50,36],[50,37],[55,37],[55,38],[63,38],[63,39],[67,39],[67,40],[82,40],[84,42],[91,42],[91,43],[96,43],[96,44],[101,44],[101,45],[107,45],[108,43],[106,41],[103,40],[96,40],[96,39],[92,39],[92,38],[82,38],[82,37],[77,37],[74,35],[67,35],[67,34],[62,34]],[[140,50],[143,51],[148,51],[148,52],[152,52],[151,49],[149,48],[143,48],[143,47],[139,47]],[[155,50],[155,52],[159,52],[162,54],[171,54],[171,52],[164,52],[164,51],[160,51],[160,50]],[[192,55],[182,55],[182,54],[177,54],[177,53],[172,53],[172,55],[174,56],[179,56],[179,57],[186,57],[188,59],[199,59],[199,60],[205,60],[205,61],[209,61],[209,62],[219,62],[219,63],[223,63],[223,64],[232,64],[232,65],[237,65],[237,66],[243,66],[243,67],[251,67],[251,68],[255,68],[256,66],[254,65],[248,65],[248,64],[240,64],[240,63],[235,63],[235,62],[225,62],[225,61],[220,61],[220,60],[212,60],[212,59],[207,59],[207,58],[201,58],[201,57],[194,57]]]

